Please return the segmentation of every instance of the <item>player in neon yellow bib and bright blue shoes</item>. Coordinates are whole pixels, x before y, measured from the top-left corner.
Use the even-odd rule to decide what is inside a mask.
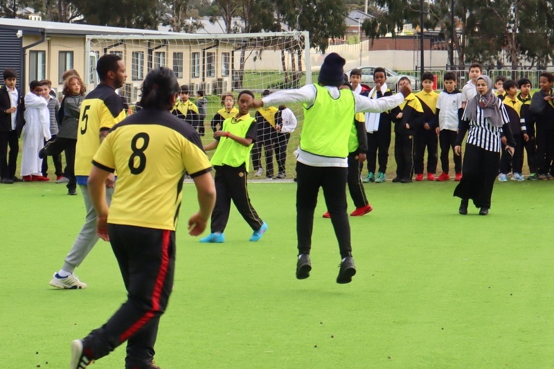
[[[251,242],[262,238],[267,231],[267,224],[256,213],[250,204],[247,187],[247,174],[250,163],[250,152],[256,142],[256,120],[248,113],[254,96],[251,91],[238,94],[238,114],[224,120],[222,129],[215,131],[215,141],[204,146],[204,150],[215,150],[211,163],[215,168],[215,190],[217,200],[212,215],[211,233],[200,242],[224,242],[223,231],[229,220],[231,200],[238,212],[254,233]]]

